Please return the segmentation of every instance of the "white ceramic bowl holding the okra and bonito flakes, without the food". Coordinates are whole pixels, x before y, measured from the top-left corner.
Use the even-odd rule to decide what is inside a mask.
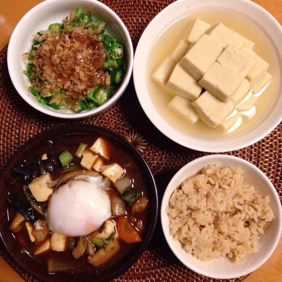
[[[49,24],[61,23],[69,14],[70,10],[77,11],[79,8],[82,8],[84,11],[90,10],[95,18],[105,21],[107,23],[105,33],[117,38],[117,41],[125,46],[127,71],[117,92],[105,104],[98,108],[75,114],[70,110],[54,110],[46,105],[43,106],[34,99],[33,95],[28,91],[31,83],[22,72],[26,67],[21,56],[25,52],[30,51],[34,41],[34,34],[48,28]],[[54,117],[82,118],[102,112],[120,98],[129,83],[132,73],[133,47],[127,28],[117,14],[105,4],[96,0],[46,0],[28,11],[17,24],[9,42],[7,62],[14,87],[21,97],[33,108]]]

